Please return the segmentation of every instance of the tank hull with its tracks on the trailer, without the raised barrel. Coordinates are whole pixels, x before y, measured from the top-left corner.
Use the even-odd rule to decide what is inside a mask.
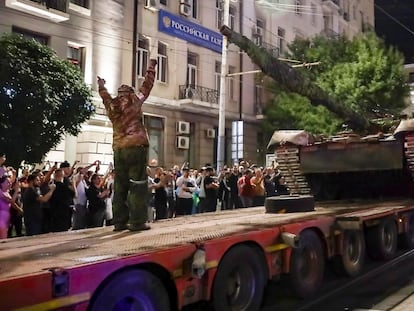
[[[402,120],[391,134],[363,137],[275,131],[268,148],[274,149],[291,195],[325,201],[414,194],[414,119]]]

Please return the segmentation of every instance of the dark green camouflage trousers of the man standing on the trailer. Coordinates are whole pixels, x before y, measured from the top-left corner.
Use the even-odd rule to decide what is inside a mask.
[[[129,147],[114,150],[114,199],[112,202],[115,226],[139,226],[148,220],[147,194],[148,147]]]

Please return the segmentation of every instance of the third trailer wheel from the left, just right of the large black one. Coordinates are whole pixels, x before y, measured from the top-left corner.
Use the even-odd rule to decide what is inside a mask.
[[[292,249],[289,279],[293,291],[301,298],[312,296],[323,281],[325,258],[322,244],[314,231],[300,234],[299,247]]]

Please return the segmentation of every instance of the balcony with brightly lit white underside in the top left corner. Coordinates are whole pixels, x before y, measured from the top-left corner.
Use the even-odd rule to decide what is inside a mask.
[[[69,0],[6,0],[6,7],[49,19],[55,23],[67,21]]]

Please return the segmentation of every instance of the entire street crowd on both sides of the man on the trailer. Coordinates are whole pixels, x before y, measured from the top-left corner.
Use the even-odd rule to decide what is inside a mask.
[[[0,154],[0,239],[112,225],[115,170],[100,172],[100,161],[18,172]],[[148,222],[195,213],[264,204],[267,196],[288,194],[275,166],[246,161],[216,172],[211,165],[193,169],[147,166]]]

